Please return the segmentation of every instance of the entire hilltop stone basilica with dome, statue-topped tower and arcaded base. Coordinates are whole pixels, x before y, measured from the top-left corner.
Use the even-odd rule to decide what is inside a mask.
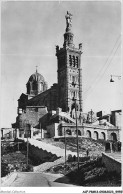
[[[92,122],[92,114],[89,121],[89,115],[83,113],[82,43],[74,45],[72,14],[67,12],[65,19],[63,46],[56,46],[57,83],[48,88],[36,69],[26,83],[26,94],[22,93],[18,99],[18,115],[12,127],[18,129],[19,137],[24,137],[27,131],[32,137],[34,129],[41,129],[42,137],[59,137],[64,132],[74,136],[78,127],[80,136],[117,140],[120,134],[115,126],[108,121],[100,124],[94,116]]]

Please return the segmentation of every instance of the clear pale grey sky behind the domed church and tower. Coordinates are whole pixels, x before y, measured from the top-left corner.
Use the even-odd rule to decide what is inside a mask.
[[[72,13],[74,44],[81,57],[83,111],[121,109],[120,1],[2,1],[1,127],[16,121],[20,95],[36,70],[57,83],[55,46],[63,46],[65,15]]]

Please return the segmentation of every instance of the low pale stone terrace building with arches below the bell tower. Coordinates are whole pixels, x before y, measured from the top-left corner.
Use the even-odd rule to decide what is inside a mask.
[[[49,119],[49,125],[46,127],[49,137],[76,136],[92,138],[95,140],[120,140],[120,130],[107,122],[106,120],[96,121],[94,123],[80,123],[72,119],[68,113],[57,109],[56,113]]]

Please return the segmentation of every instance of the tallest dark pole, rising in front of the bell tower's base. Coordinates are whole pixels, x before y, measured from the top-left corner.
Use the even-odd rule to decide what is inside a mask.
[[[77,109],[76,109],[76,99],[73,97],[75,102],[75,117],[76,117],[76,138],[77,138],[77,163],[78,163],[78,170],[79,170],[79,141],[78,141],[78,126],[77,126]]]

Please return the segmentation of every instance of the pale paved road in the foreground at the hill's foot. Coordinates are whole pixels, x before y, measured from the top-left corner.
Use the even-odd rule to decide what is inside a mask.
[[[4,183],[4,187],[72,187],[75,185],[54,182],[61,175],[52,175],[46,173],[18,172],[13,182],[9,179]],[[2,186],[2,185],[1,185]]]

